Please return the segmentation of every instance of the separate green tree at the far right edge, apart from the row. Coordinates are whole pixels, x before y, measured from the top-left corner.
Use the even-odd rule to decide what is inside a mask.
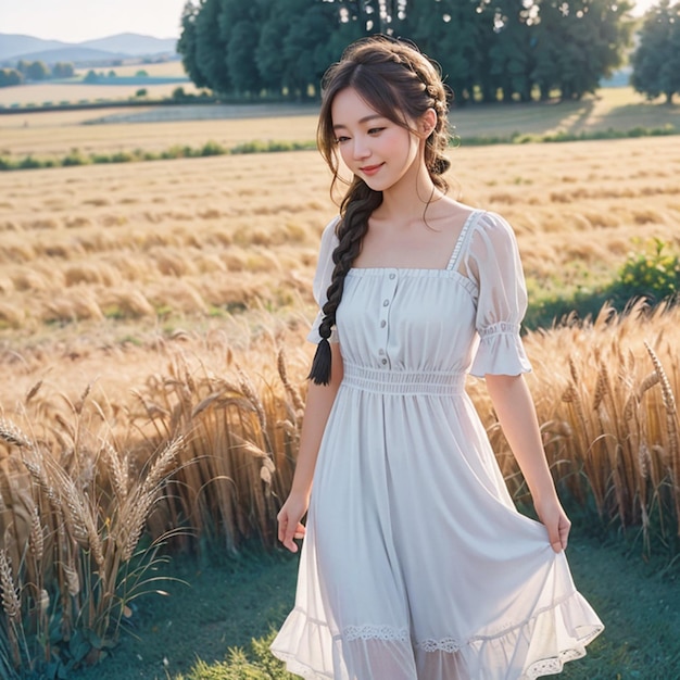
[[[648,99],[670,104],[680,93],[680,2],[662,0],[645,14],[632,67],[631,85]]]

